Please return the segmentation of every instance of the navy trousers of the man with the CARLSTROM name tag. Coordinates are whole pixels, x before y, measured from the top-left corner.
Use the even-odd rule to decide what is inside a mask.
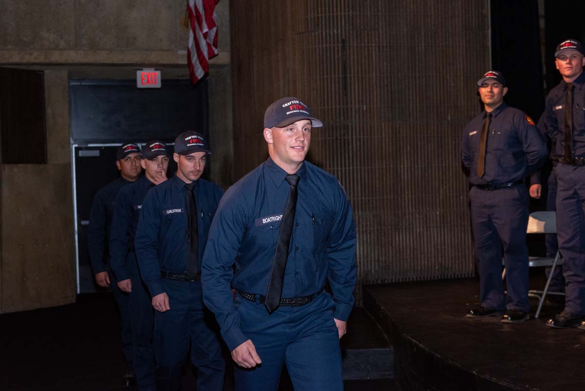
[[[214,315],[203,304],[201,281],[163,280],[170,310],[154,314],[157,391],[178,390],[191,343],[198,391],[222,391],[225,361]]]

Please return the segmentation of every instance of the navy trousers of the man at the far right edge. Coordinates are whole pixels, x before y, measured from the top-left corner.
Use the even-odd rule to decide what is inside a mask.
[[[556,231],[563,256],[565,308],[585,314],[585,166],[556,166]]]

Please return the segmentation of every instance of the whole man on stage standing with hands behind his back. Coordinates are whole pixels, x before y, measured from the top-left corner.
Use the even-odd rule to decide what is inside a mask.
[[[546,159],[546,143],[524,112],[504,103],[504,76],[488,71],[480,80],[484,111],[463,132],[462,162],[470,170],[469,192],[481,306],[467,313],[485,318],[506,313],[503,323],[529,318],[528,190],[524,180]],[[502,246],[508,297],[502,284]]]

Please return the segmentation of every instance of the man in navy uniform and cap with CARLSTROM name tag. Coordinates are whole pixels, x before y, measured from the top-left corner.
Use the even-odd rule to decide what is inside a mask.
[[[175,140],[174,177],[152,188],[142,203],[136,255],[152,296],[158,391],[178,390],[191,343],[197,390],[223,389],[221,342],[201,294],[201,260],[209,225],[223,191],[201,179],[209,152],[205,138],[184,132]],[[215,327],[214,327],[215,325]]]

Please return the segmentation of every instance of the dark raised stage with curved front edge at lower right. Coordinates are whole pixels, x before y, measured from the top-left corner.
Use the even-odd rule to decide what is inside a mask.
[[[540,283],[531,278],[531,289]],[[391,335],[402,390],[585,390],[585,331],[545,325],[562,307],[545,304],[538,319],[503,324],[500,317],[465,317],[479,305],[476,279],[363,291],[364,307]],[[531,304],[534,316],[538,301]]]

